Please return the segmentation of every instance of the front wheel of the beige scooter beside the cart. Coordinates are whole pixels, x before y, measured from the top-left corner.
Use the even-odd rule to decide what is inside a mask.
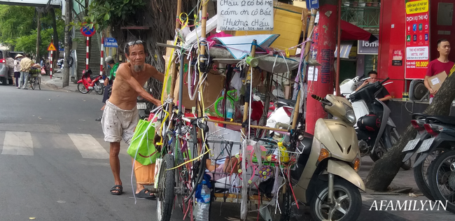
[[[316,185],[316,195],[311,200],[313,220],[357,220],[362,210],[362,197],[358,188],[342,178],[333,183],[335,204],[328,203],[328,182]]]

